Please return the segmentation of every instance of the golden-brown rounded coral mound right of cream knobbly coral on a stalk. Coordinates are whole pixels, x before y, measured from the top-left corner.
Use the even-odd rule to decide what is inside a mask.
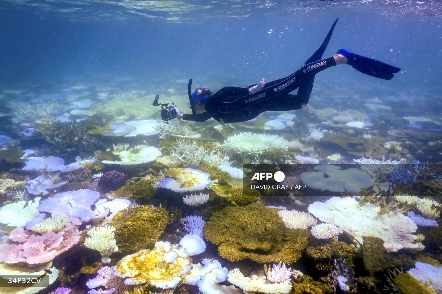
[[[110,221],[120,252],[133,253],[152,246],[166,228],[169,217],[164,208],[150,205],[126,208]]]

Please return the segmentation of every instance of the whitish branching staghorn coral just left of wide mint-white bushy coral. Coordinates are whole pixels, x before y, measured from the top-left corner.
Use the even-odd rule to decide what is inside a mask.
[[[176,146],[171,149],[171,155],[174,155],[187,166],[199,162],[205,162],[211,166],[232,165],[228,155],[217,149],[206,150],[191,140],[180,139],[176,141]]]

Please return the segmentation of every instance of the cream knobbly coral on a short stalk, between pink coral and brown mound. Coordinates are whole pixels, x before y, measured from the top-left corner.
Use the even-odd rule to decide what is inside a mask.
[[[114,231],[113,226],[94,226],[87,231],[89,237],[84,240],[84,246],[97,250],[103,264],[110,263],[109,256],[118,251]]]

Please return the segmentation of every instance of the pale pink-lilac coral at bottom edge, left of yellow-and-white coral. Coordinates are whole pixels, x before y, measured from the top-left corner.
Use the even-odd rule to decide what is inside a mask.
[[[114,275],[115,267],[102,267],[97,271],[97,276],[86,282],[89,289],[104,286],[107,291],[115,291],[115,293],[122,293],[129,290],[129,286],[124,284],[124,279]],[[107,292],[112,293],[112,292]],[[90,290],[89,294],[98,293],[96,290]]]

